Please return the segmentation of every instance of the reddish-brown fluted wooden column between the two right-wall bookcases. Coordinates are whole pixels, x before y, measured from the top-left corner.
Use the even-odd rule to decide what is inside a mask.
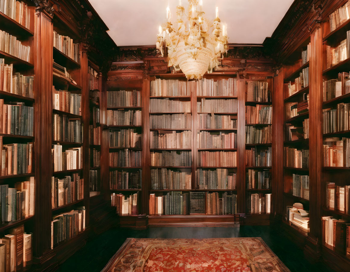
[[[310,128],[309,135],[309,186],[310,186],[310,233],[306,253],[318,256],[321,237],[321,180],[322,180],[322,25],[317,24],[311,32],[310,48]]]

